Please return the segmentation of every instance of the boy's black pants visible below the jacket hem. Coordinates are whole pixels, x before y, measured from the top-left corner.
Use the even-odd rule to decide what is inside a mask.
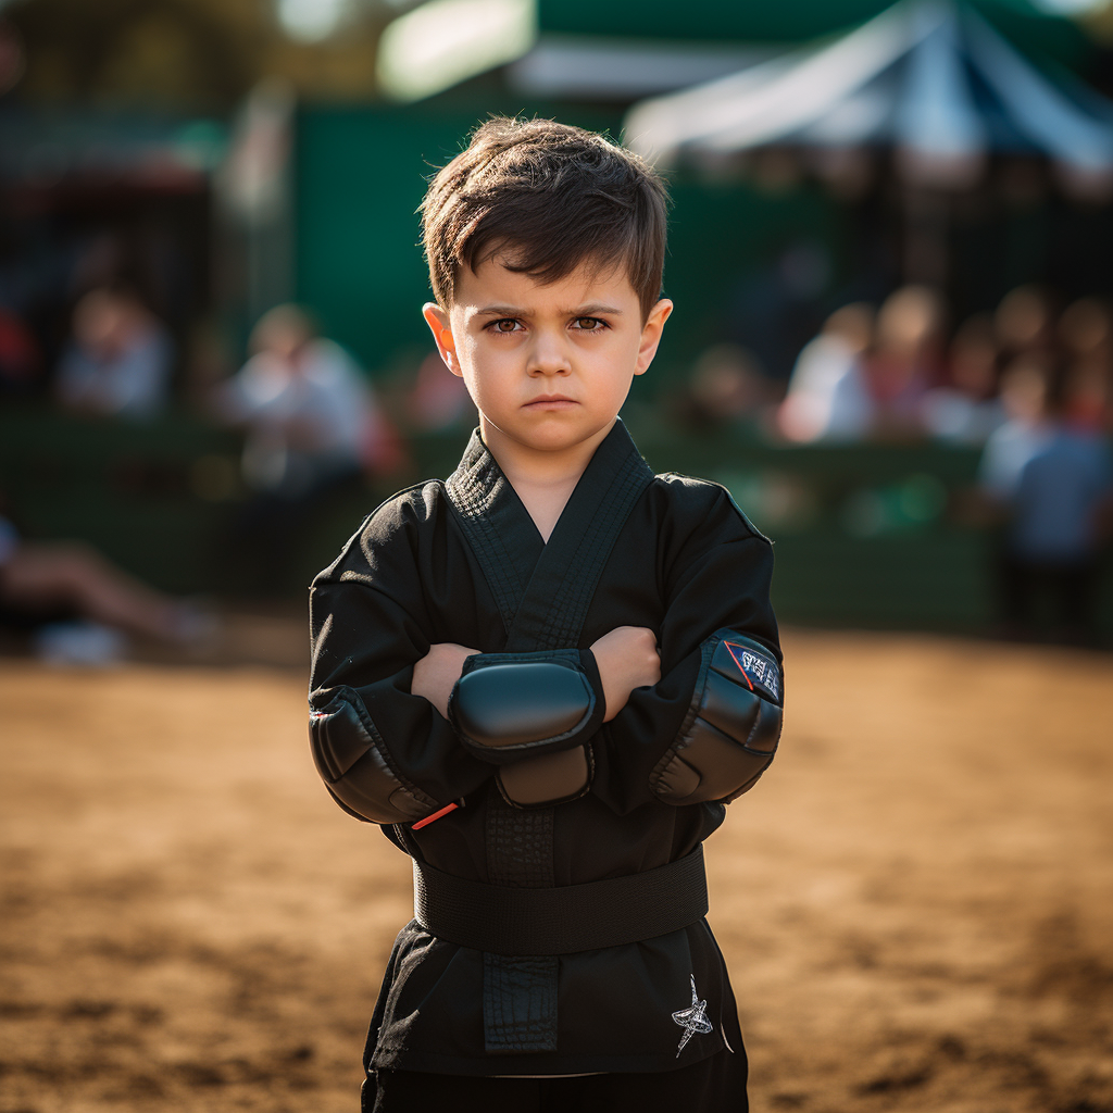
[[[364,1113],[747,1113],[746,1054],[717,1055],[653,1074],[484,1078],[374,1071]]]

